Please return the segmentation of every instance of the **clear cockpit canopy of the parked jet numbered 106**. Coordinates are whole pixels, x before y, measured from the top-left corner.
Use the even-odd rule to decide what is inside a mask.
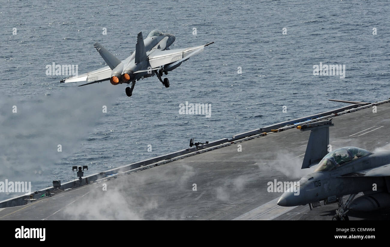
[[[370,154],[371,152],[367,150],[353,146],[339,148],[325,155],[314,171],[332,171],[347,162],[355,161]]]

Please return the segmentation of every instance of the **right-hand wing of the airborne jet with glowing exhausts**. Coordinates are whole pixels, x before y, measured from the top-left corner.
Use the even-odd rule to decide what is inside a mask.
[[[205,44],[203,46],[194,46],[184,49],[173,49],[173,50],[164,50],[164,51],[154,51],[149,55],[149,63],[152,68],[157,68],[165,64],[170,64],[173,62],[184,62],[188,60],[191,56],[194,56],[203,51],[205,46],[213,44],[214,42]]]

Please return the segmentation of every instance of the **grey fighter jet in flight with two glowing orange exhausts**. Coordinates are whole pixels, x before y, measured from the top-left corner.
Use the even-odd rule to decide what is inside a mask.
[[[153,30],[144,40],[142,32],[140,32],[137,36],[135,52],[123,61],[116,58],[103,48],[101,44],[96,42],[94,47],[108,66],[80,76],[63,79],[60,82],[86,82],[80,86],[99,83],[101,81],[110,81],[112,85],[131,83],[131,88],[126,87],[126,95],[129,97],[133,93],[136,81],[154,75],[157,76],[165,87],[169,87],[168,78],[164,78],[164,80],[161,78],[163,73],[167,75],[168,71],[176,69],[191,56],[202,52],[205,46],[214,43],[211,42],[203,46],[170,50],[169,46],[175,39],[176,37],[173,34]]]

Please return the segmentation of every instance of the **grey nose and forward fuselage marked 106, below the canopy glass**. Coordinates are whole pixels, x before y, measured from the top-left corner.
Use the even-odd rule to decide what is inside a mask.
[[[387,191],[383,177],[363,176],[357,171],[385,166],[389,163],[390,152],[376,152],[329,171],[314,171],[299,180],[299,194],[294,193],[293,189],[284,192],[278,201],[278,205],[306,205],[359,192],[377,193]]]

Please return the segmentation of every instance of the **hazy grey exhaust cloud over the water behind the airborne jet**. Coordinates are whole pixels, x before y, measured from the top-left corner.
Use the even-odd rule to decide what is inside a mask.
[[[115,104],[122,89],[69,85],[31,98],[1,97],[0,180],[31,181],[33,191],[50,185],[51,169],[80,148],[107,114],[103,106]],[[7,197],[0,194],[0,200]]]

